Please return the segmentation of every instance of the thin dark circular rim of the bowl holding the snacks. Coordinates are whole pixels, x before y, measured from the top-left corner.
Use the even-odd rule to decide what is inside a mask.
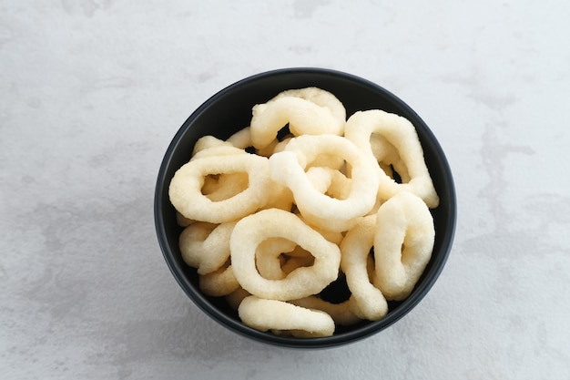
[[[283,75],[320,75],[320,76],[330,76],[336,79],[345,79],[351,82],[356,82],[361,86],[369,87],[375,92],[382,93],[384,97],[390,98],[390,100],[397,106],[405,110],[408,115],[411,115],[414,119],[412,124],[414,127],[422,128],[423,134],[426,135],[427,139],[430,139],[433,149],[436,150],[437,159],[440,160],[440,165],[443,168],[443,177],[447,180],[447,190],[449,192],[449,197],[446,200],[449,206],[449,212],[446,214],[447,225],[449,228],[443,231],[443,242],[442,251],[435,257],[435,261],[431,265],[430,272],[427,275],[427,280],[422,282],[422,288],[418,291],[414,291],[408,298],[406,298],[397,307],[396,310],[388,313],[384,318],[379,321],[370,322],[359,327],[356,330],[352,330],[342,334],[333,334],[326,337],[315,337],[315,338],[295,338],[290,336],[282,336],[271,334],[268,332],[260,332],[259,330],[253,329],[246,324],[241,323],[239,320],[227,315],[226,313],[220,312],[214,305],[209,302],[209,297],[200,293],[194,285],[189,282],[188,278],[183,274],[183,271],[179,267],[178,263],[173,259],[173,252],[171,252],[168,241],[167,241],[167,231],[165,222],[162,218],[163,215],[163,195],[165,193],[165,188],[168,188],[169,178],[166,178],[166,174],[172,159],[173,153],[178,148],[179,140],[184,136],[188,128],[191,128],[192,122],[197,119],[202,112],[208,109],[211,105],[215,104],[219,98],[225,97],[229,92],[241,87],[244,84],[260,81],[267,77],[283,76]],[[272,344],[282,347],[289,348],[330,348],[334,346],[340,346],[344,344],[351,344],[353,342],[359,341],[363,338],[369,337],[372,334],[376,334],[385,328],[396,323],[403,316],[408,314],[422,299],[429,293],[433,284],[439,278],[441,272],[443,272],[443,267],[447,262],[449,254],[453,245],[453,238],[455,233],[457,219],[457,205],[456,205],[456,194],[455,186],[453,181],[453,173],[450,168],[449,162],[443,152],[443,149],[439,141],[433,135],[432,130],[427,126],[427,124],[416,114],[416,112],[408,106],[401,98],[394,95],[391,91],[386,88],[362,77],[355,76],[350,73],[334,70],[331,68],[321,68],[321,67],[288,67],[273,69],[259,74],[255,74],[249,77],[240,79],[227,87],[222,88],[213,96],[208,98],[204,103],[202,103],[195,111],[193,111],[190,116],[185,120],[185,122],[178,128],[177,133],[171,139],[168,144],[168,149],[166,150],[164,157],[161,161],[160,167],[158,169],[158,178],[156,182],[155,195],[154,195],[154,220],[155,229],[158,237],[158,244],[162,251],[163,257],[167,262],[168,268],[172,275],[175,277],[178,285],[183,290],[184,293],[195,303],[202,312],[207,313],[209,317],[214,319],[219,324],[228,328],[229,330],[245,336],[249,339],[253,339],[258,342],[265,344]],[[397,313],[396,313],[397,312]]]

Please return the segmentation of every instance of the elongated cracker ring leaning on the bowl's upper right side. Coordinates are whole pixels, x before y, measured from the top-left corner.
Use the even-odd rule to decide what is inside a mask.
[[[407,183],[399,184],[382,169],[378,169],[380,174],[378,189],[381,198],[387,200],[400,191],[411,191],[422,198],[428,207],[437,207],[439,197],[433,187],[432,177],[423,159],[422,145],[412,123],[406,118],[380,109],[358,111],[347,120],[344,137],[367,152],[369,159],[378,162],[372,154],[370,143],[372,134],[382,135],[398,150],[410,177]],[[376,167],[379,168],[378,165]]]

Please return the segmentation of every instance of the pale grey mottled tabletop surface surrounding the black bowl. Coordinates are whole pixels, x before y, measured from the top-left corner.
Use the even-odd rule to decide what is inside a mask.
[[[1,1],[2,378],[569,378],[570,3],[395,3]],[[298,66],[403,98],[440,139],[459,201],[422,303],[315,352],[199,312],[152,211],[162,155],[199,104]]]

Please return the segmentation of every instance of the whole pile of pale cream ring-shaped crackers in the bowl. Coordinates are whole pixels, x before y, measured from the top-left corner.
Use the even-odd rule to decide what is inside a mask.
[[[432,256],[439,203],[409,120],[347,119],[317,87],[254,106],[227,140],[198,139],[169,197],[201,291],[250,327],[296,337],[379,320],[405,299]],[[350,295],[321,298],[340,276]]]

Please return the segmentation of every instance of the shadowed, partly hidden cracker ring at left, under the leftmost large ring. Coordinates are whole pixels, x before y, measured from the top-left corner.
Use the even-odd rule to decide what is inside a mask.
[[[198,274],[217,271],[229,259],[229,237],[235,225],[203,221],[190,224],[178,239],[182,260],[196,268]]]

